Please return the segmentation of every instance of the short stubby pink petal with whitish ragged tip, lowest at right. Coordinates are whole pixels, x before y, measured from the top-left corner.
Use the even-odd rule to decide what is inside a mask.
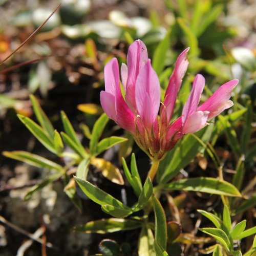
[[[183,125],[182,133],[195,133],[201,130],[205,125],[207,125],[208,115],[209,111],[197,111],[189,115]]]

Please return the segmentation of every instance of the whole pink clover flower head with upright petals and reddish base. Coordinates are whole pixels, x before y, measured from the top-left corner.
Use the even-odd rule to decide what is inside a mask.
[[[161,108],[159,79],[142,41],[136,40],[130,46],[127,66],[121,66],[124,97],[120,88],[117,59],[113,58],[105,66],[105,91],[100,93],[103,110],[119,126],[132,133],[137,144],[152,158],[162,159],[185,134],[201,130],[208,124],[207,120],[233,105],[229,99],[231,91],[238,84],[237,79],[224,83],[198,106],[205,86],[204,77],[198,74],[181,117],[171,121],[188,66],[188,50],[185,49],[177,59]]]

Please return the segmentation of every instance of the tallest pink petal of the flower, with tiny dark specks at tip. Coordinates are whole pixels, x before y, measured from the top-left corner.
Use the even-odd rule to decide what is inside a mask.
[[[126,82],[126,94],[125,100],[127,104],[130,106],[130,109],[136,110],[136,101],[135,101],[135,83],[137,76],[145,65],[147,61],[147,50],[146,46],[141,40],[136,40],[129,47],[127,54],[127,67],[128,67],[128,75]]]

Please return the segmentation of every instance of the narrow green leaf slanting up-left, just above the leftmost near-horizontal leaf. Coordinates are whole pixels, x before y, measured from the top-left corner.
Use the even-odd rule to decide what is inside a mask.
[[[22,121],[28,130],[52,153],[57,154],[52,138],[42,128],[32,121],[29,117],[17,115],[19,120]]]

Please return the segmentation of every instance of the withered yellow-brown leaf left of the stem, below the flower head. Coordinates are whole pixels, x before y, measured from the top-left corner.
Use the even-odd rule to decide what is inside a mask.
[[[91,164],[96,166],[101,171],[102,175],[108,180],[119,185],[124,184],[120,170],[111,162],[106,161],[103,158],[93,157],[91,159]]]

